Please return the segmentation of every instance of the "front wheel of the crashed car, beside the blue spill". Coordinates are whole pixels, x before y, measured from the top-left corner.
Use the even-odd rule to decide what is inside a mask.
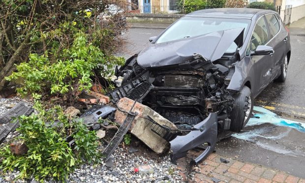
[[[231,116],[230,130],[240,132],[249,121],[253,111],[254,98],[251,90],[244,86],[239,94],[234,96],[235,109]]]

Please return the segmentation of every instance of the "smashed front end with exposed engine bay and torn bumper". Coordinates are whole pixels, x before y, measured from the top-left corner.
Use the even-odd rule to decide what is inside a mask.
[[[122,70],[117,71],[117,76],[123,76],[122,86],[109,94],[114,102],[127,97],[149,106],[173,122],[180,130],[179,134],[185,135],[184,138],[188,135],[194,137],[191,133],[198,129],[197,137],[190,138],[185,145],[183,142],[187,140],[177,140],[182,137],[179,134],[170,142],[174,160],[195,148],[189,144],[192,141],[196,141],[192,142],[196,146],[207,143],[205,149],[210,152],[214,149],[217,137],[224,138],[234,131],[231,121],[236,113],[234,94],[237,91],[226,88],[234,72],[232,63],[235,55],[224,56],[214,64],[206,61],[203,56],[194,54],[193,59],[186,63],[149,69],[138,65],[136,58],[134,56]],[[204,141],[201,134],[210,140]],[[182,152],[183,146],[187,148]],[[208,155],[207,151],[205,154]],[[194,162],[197,163],[206,155]]]

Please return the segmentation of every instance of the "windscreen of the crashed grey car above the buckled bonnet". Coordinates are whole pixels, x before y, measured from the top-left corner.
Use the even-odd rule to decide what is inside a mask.
[[[251,24],[248,19],[207,18],[207,17],[183,17],[157,39],[155,43],[174,41],[187,37],[203,35],[219,30],[244,28],[244,35]],[[233,53],[237,45],[233,42],[226,51]]]

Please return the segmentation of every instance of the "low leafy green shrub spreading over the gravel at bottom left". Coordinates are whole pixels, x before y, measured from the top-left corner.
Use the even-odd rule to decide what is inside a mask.
[[[0,169],[4,171],[20,171],[16,179],[33,176],[35,180],[44,182],[47,178],[65,181],[71,171],[84,160],[99,163],[101,152],[97,151],[98,141],[94,131],[89,131],[82,122],[69,122],[59,106],[48,111],[37,98],[35,110],[37,114],[29,117],[18,117],[20,135],[18,140],[24,142],[29,151],[23,155],[14,155],[9,145],[0,150]],[[17,120],[17,119],[16,119]],[[60,122],[54,125],[55,122]],[[76,146],[71,148],[64,140],[72,135]]]

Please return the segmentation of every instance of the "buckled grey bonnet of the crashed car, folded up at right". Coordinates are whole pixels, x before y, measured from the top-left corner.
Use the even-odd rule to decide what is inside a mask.
[[[137,62],[143,68],[180,64],[192,60],[194,54],[207,61],[220,59],[234,41],[243,45],[244,28],[220,30],[204,35],[151,44],[142,50]]]

